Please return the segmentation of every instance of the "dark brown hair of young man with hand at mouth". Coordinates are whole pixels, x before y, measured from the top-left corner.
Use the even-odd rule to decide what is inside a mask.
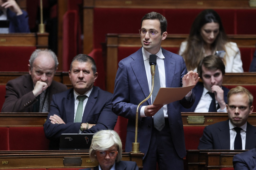
[[[225,65],[222,59],[215,55],[206,56],[201,60],[197,66],[197,73],[199,77],[202,77],[202,66],[204,66],[207,70],[216,71],[220,70],[222,72],[222,76],[225,74]]]

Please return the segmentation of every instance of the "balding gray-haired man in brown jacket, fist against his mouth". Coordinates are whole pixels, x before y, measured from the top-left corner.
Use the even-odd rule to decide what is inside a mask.
[[[30,56],[28,71],[6,84],[5,102],[1,112],[48,113],[52,95],[67,90],[53,80],[58,59],[50,49],[36,49]]]

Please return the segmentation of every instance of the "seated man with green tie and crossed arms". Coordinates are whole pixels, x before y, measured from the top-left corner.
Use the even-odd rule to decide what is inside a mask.
[[[94,86],[97,77],[92,57],[85,54],[75,56],[69,70],[73,88],[53,95],[44,124],[50,149],[59,148],[62,133],[96,133],[115,127],[117,116],[112,112],[112,94]]]

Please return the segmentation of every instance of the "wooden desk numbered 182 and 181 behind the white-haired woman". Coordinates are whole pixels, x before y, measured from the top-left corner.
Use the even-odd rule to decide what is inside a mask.
[[[135,161],[142,169],[144,153],[123,153],[123,161]],[[68,159],[75,160],[68,160]],[[0,169],[14,168],[88,168],[98,165],[89,152],[76,151],[0,151]]]

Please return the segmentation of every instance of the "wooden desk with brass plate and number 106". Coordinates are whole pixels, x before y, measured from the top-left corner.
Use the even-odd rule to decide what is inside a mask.
[[[228,120],[228,113],[181,113],[184,126],[207,126]],[[203,122],[202,122],[203,120]],[[198,123],[197,123],[198,122]],[[248,122],[256,126],[256,113],[248,117]]]

